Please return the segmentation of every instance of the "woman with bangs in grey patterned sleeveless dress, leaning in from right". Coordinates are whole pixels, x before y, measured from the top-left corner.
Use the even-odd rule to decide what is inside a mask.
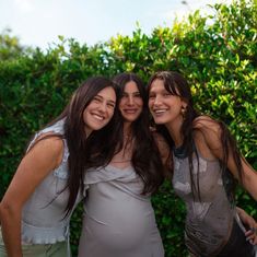
[[[256,222],[245,240],[232,176],[257,200],[257,173],[223,122],[199,115],[187,81],[161,71],[149,82],[149,108],[173,152],[173,186],[187,206],[185,240],[191,256],[255,256]],[[255,233],[253,233],[255,231]]]

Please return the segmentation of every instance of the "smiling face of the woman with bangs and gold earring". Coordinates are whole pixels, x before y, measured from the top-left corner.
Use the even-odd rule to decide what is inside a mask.
[[[155,79],[149,91],[149,108],[155,124],[173,126],[173,124],[182,124],[182,107],[186,107],[186,103],[180,96],[168,92],[161,79]]]

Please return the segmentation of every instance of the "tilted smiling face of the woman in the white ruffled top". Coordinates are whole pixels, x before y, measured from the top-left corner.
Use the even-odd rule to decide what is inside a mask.
[[[102,129],[112,119],[116,104],[116,94],[112,86],[101,90],[83,110],[85,132]]]

